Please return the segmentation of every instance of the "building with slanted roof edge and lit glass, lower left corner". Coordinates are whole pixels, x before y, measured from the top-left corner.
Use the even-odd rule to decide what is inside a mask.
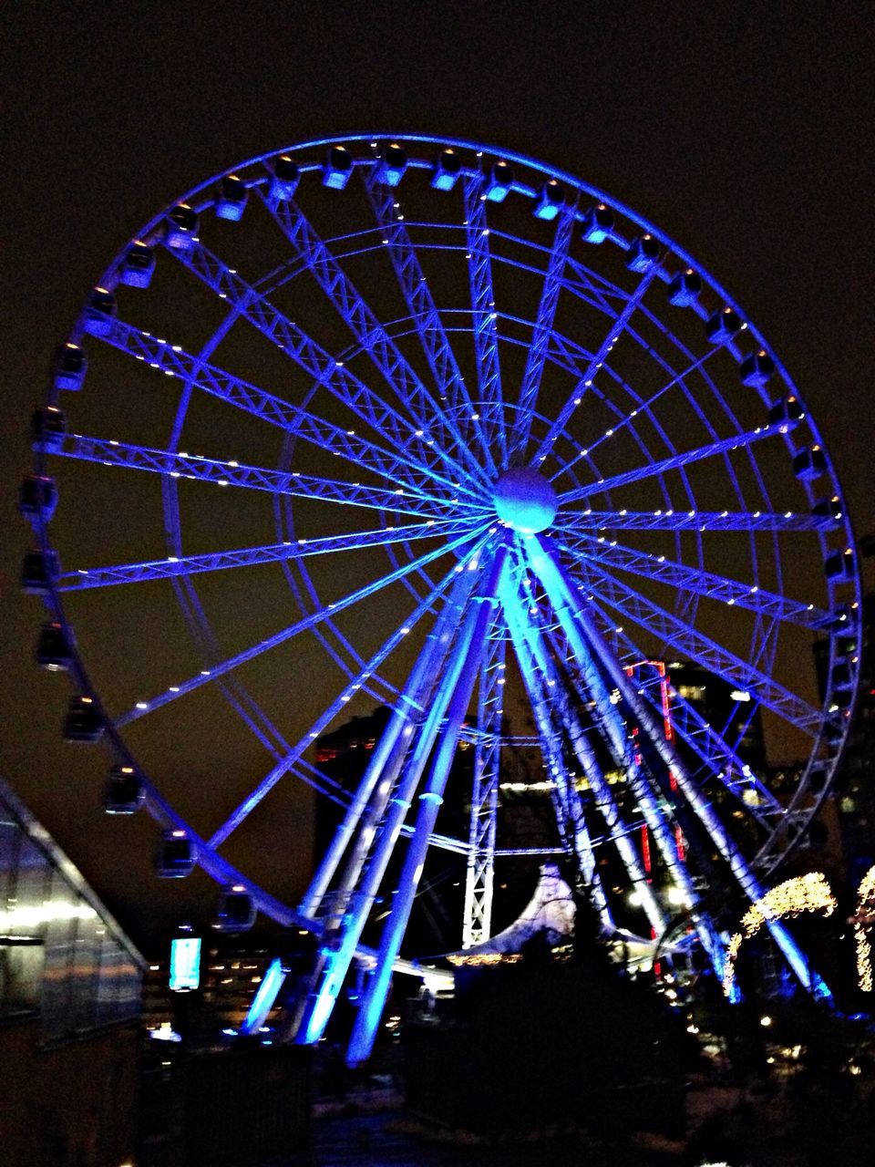
[[[145,962],[0,781],[0,1160],[133,1161]]]

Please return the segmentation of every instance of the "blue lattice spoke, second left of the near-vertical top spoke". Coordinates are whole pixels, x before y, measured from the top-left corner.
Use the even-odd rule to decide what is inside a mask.
[[[358,293],[301,208],[290,198],[278,200],[259,188],[259,195],[299,258],[383,375],[394,396],[413,419],[416,431],[440,434],[433,453],[454,474],[461,464],[485,484],[481,466],[468,448],[453,418],[443,413],[371,307]],[[444,449],[444,445],[449,449]],[[450,452],[452,450],[452,452]]]

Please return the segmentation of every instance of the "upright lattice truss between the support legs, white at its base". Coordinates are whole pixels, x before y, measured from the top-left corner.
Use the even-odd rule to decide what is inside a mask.
[[[468,867],[464,883],[462,948],[480,944],[491,935],[495,837],[498,816],[498,781],[502,766],[502,718],[504,715],[503,624],[497,617],[487,640],[480,675],[477,728],[474,746],[474,784],[468,834]]]

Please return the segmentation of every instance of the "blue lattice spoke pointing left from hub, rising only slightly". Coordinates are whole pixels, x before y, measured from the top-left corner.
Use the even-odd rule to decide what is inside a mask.
[[[220,462],[210,457],[175,454],[172,450],[152,449],[147,446],[131,446],[105,438],[71,434],[64,439],[61,449],[54,452],[62,457],[71,457],[103,466],[130,470],[146,470],[169,478],[210,482],[220,487],[237,487],[246,490],[264,490],[271,495],[288,495],[295,498],[312,498],[338,505],[360,506],[368,510],[390,511],[418,518],[444,520],[460,513],[455,499],[420,496],[411,488],[385,490],[363,487],[358,482],[338,478],[321,478],[299,471],[273,470],[259,466],[240,466],[238,462]],[[478,517],[488,515],[483,508],[463,508],[462,513]]]

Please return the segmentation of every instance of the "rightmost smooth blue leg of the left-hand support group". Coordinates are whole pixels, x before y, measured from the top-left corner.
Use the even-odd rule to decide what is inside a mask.
[[[483,643],[492,617],[492,605],[498,579],[504,566],[506,547],[499,546],[487,574],[484,586],[477,595],[480,603],[471,612],[474,626],[468,638],[463,664],[453,686],[453,699],[447,710],[447,724],[432,761],[425,789],[419,795],[419,809],[405,855],[404,867],[398,882],[397,895],[392,903],[380,937],[377,956],[377,967],[368,985],[362,1005],[356,1015],[350,1039],[348,1062],[351,1065],[363,1062],[373,1048],[377,1028],[386,1004],[392,965],[401,948],[407,921],[425,866],[428,851],[428,838],[434,829],[438,811],[443,802],[443,788],[447,784],[449,768],[456,753],[459,732],[468,713],[468,705],[474,692],[474,683],[483,657]],[[461,656],[461,654],[460,654]]]

